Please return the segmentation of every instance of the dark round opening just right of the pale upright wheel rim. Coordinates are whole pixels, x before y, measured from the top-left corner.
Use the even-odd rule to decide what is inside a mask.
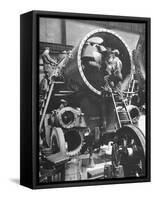
[[[71,130],[65,133],[65,141],[67,143],[68,153],[76,154],[82,146],[82,139],[79,131]]]

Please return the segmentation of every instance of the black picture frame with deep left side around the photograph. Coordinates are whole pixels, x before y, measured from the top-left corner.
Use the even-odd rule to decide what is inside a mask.
[[[140,178],[116,178],[106,180],[82,180],[40,184],[39,177],[39,136],[38,136],[38,93],[39,93],[39,18],[60,18],[75,20],[96,20],[112,22],[145,23],[146,49],[146,175]],[[149,182],[151,179],[151,19],[145,17],[127,17],[64,13],[50,11],[31,11],[20,16],[20,184],[32,189],[90,186],[119,183]]]

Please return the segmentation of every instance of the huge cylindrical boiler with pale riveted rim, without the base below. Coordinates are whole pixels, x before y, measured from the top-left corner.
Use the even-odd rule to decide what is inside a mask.
[[[107,49],[119,51],[118,57],[123,64],[122,83],[125,83],[131,73],[132,65],[128,46],[113,31],[97,29],[88,33],[72,50],[69,59],[66,58],[62,73],[68,87],[75,91],[89,89],[91,92],[101,95],[105,71],[103,69],[105,65],[101,65],[103,65],[102,60]]]

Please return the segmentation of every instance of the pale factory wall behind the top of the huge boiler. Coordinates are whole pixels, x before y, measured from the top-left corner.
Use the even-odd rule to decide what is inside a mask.
[[[63,25],[60,19],[41,18],[40,42],[63,44],[62,38],[66,37],[66,45],[76,46],[88,32],[103,27],[115,31],[132,51],[136,47],[140,34],[144,34],[144,25],[135,23],[65,20]]]

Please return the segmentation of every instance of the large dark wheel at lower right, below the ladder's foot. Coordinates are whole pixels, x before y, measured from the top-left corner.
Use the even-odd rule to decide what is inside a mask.
[[[120,128],[112,148],[113,168],[123,166],[125,177],[145,175],[145,137],[134,125]]]

